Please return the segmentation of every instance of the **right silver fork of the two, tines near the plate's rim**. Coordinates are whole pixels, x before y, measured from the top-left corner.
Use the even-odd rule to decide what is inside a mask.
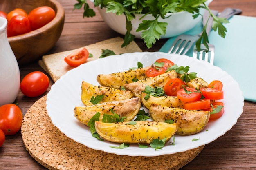
[[[209,13],[209,11],[206,11],[206,12]],[[242,13],[241,9],[226,8],[222,11],[222,13],[220,13],[220,15],[218,15],[218,17],[229,19],[231,16],[239,13]],[[210,17],[209,20],[213,20],[213,18]],[[206,33],[208,36],[210,31],[211,31],[211,28],[207,27]],[[200,51],[197,51],[196,46],[194,46],[193,57],[198,58],[199,60],[210,62],[213,65],[215,46],[213,44],[208,44],[208,46],[209,46],[209,49],[207,49],[206,46],[204,46],[204,44],[201,44]]]

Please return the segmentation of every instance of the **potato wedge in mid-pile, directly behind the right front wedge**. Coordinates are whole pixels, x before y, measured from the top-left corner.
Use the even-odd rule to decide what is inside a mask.
[[[149,109],[152,103],[162,104],[164,106],[173,107],[173,108],[184,108],[184,103],[180,101],[177,96],[160,96],[154,97],[150,95],[150,97],[146,100],[146,93],[141,93],[141,101],[145,108]]]

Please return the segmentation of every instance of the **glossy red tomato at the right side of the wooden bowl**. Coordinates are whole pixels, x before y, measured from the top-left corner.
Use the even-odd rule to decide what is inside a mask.
[[[39,29],[51,22],[55,17],[55,11],[51,7],[42,6],[30,11],[28,18],[31,29]]]

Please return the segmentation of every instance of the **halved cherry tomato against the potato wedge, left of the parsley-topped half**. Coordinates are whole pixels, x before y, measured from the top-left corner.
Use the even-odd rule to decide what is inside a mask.
[[[182,88],[182,85],[185,83],[179,78],[169,79],[164,85],[164,93],[168,96],[177,96],[177,91]]]

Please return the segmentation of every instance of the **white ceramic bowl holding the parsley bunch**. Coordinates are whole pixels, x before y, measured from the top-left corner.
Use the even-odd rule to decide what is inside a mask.
[[[93,0],[91,0],[93,2]],[[213,0],[208,0],[206,2],[209,5]],[[106,8],[101,9],[96,7],[99,11],[104,22],[114,31],[125,35],[126,33],[126,18],[124,15],[118,16],[115,13],[106,13]],[[200,14],[203,14],[205,9],[200,9]],[[193,19],[193,14],[189,12],[178,12],[178,13],[168,13],[167,16],[172,15],[169,18],[162,19],[159,18],[159,22],[167,22],[168,26],[166,27],[166,34],[161,38],[170,38],[176,35],[180,35],[192,29],[198,22],[201,21],[202,17],[198,16]],[[136,14],[135,19],[132,20],[132,31],[131,33],[136,36],[136,38],[141,38],[141,32],[136,32],[139,24],[142,22],[139,20],[143,14]],[[143,20],[154,20],[155,18],[152,15],[146,15]]]

